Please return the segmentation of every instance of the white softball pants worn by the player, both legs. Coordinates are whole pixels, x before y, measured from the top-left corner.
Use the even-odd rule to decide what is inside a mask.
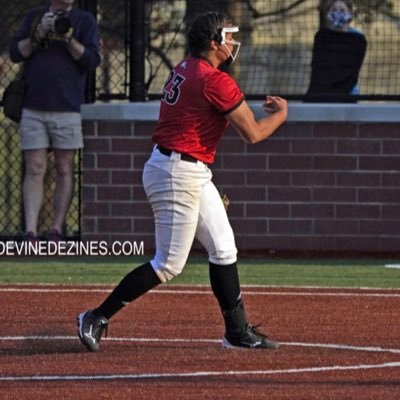
[[[196,237],[209,261],[236,262],[237,249],[220,194],[207,165],[161,154],[156,148],[146,162],[143,186],[153,209],[156,253],[150,261],[162,282],[180,274]]]

